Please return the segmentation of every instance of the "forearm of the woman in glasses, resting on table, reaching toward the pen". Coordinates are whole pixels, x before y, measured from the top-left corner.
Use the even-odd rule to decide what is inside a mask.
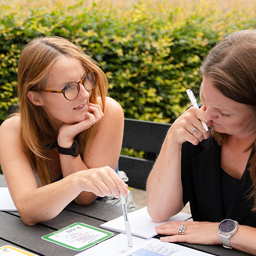
[[[16,198],[15,205],[27,225],[47,221],[59,214],[80,194],[80,187],[74,175],[49,185],[26,191]]]

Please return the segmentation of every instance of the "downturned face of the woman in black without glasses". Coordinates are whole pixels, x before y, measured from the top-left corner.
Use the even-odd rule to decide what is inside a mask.
[[[255,134],[255,125],[250,106],[233,101],[224,96],[204,77],[200,99],[206,107],[205,119],[219,133],[250,138]]]

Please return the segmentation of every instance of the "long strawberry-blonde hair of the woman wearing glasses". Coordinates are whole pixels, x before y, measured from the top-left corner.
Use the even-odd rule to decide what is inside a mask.
[[[108,90],[108,80],[98,63],[71,41],[56,36],[40,37],[29,42],[24,48],[18,62],[20,139],[39,185],[51,183],[47,164],[49,159],[44,150],[44,141],[46,139],[56,141],[57,134],[54,132],[44,108],[34,105],[27,95],[31,90],[45,89],[49,71],[61,56],[76,58],[87,72],[97,73],[96,86],[92,91],[90,102],[97,103],[97,97],[100,97],[103,110]],[[83,161],[86,161],[95,130],[96,124],[77,136],[81,145],[80,155]]]

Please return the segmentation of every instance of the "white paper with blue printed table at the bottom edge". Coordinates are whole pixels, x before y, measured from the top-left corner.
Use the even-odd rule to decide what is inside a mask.
[[[127,244],[125,234],[118,234],[117,236],[105,240],[104,242],[89,248],[76,255],[79,256],[206,256],[211,255],[202,251],[191,249],[173,243],[164,243],[159,239],[143,239],[133,236],[133,247]]]

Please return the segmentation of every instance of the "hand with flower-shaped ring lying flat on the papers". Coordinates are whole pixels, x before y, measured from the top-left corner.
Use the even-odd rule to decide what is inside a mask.
[[[178,227],[182,224],[186,226],[186,229],[183,234],[180,234]],[[168,237],[160,238],[162,242],[213,245],[221,244],[218,225],[219,223],[215,222],[170,221],[156,226],[156,232],[168,235]]]

